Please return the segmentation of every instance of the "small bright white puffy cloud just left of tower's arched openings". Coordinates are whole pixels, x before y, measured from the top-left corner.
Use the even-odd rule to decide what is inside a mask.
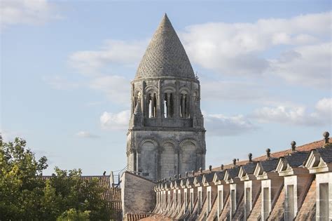
[[[118,113],[104,112],[100,116],[102,128],[111,130],[123,130],[128,128],[130,119],[130,110],[124,110]]]

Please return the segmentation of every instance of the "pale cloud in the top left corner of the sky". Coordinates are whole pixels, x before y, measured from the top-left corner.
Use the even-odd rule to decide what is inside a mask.
[[[40,25],[61,18],[54,4],[46,0],[2,0],[0,4],[1,27],[8,25]]]

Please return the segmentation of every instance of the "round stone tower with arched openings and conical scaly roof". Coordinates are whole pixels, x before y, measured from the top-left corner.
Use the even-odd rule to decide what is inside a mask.
[[[205,169],[200,81],[166,14],[131,86],[127,170],[158,180]]]

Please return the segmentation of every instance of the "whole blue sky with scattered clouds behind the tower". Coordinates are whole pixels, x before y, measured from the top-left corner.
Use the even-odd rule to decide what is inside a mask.
[[[200,79],[206,166],[332,132],[330,1],[0,4],[1,135],[45,174],[125,167],[130,81],[164,13]]]

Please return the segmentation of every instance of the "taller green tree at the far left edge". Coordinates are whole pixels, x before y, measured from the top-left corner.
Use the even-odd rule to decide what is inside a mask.
[[[0,220],[33,220],[39,216],[43,197],[42,171],[47,168],[45,156],[36,161],[26,149],[26,142],[0,138]]]

